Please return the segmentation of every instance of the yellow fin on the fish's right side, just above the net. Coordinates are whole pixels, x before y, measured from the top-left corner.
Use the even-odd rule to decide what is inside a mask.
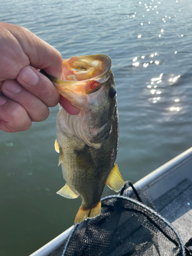
[[[121,188],[124,186],[124,181],[119,172],[117,163],[115,163],[115,166],[111,170],[111,173],[106,180],[106,185],[108,185],[109,188],[113,189],[116,192],[120,191]]]

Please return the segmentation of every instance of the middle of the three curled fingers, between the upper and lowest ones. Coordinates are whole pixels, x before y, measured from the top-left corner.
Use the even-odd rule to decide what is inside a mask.
[[[22,87],[17,81],[5,80],[2,84],[2,92],[9,99],[22,105],[32,121],[40,122],[48,118],[48,106]]]

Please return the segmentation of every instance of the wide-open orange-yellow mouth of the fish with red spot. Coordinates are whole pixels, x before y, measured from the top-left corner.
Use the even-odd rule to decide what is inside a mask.
[[[58,93],[71,101],[77,108],[87,110],[88,95],[98,91],[111,74],[111,58],[104,54],[74,56],[63,59],[63,78],[57,79],[45,74]]]

